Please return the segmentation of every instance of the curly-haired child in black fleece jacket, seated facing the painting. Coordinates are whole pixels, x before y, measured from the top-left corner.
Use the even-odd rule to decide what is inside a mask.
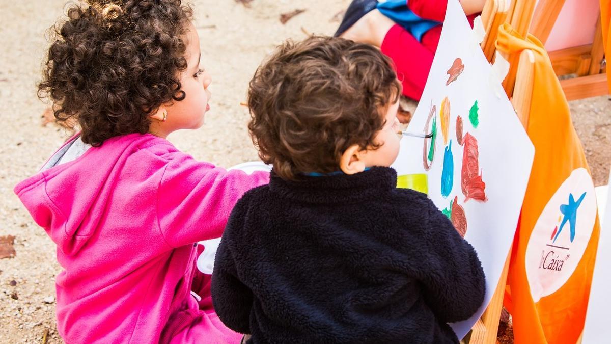
[[[425,194],[397,189],[401,84],[376,48],[284,43],[250,83],[269,185],[233,209],[214,308],[249,343],[458,343],[484,298],[473,247]]]

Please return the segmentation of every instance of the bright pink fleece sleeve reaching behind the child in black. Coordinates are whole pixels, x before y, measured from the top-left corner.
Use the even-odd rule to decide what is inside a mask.
[[[233,206],[248,190],[269,182],[269,173],[226,171],[189,155],[173,154],[157,198],[159,226],[172,247],[221,237]]]

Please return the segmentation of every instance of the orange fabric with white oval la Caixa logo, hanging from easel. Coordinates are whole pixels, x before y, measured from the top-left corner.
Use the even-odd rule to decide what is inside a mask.
[[[584,327],[598,246],[594,185],[541,42],[504,24],[497,49],[535,54],[527,125],[535,159],[513,244],[505,306],[513,316],[515,343],[574,344]]]

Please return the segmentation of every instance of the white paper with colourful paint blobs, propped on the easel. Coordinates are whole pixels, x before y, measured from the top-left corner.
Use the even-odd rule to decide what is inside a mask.
[[[451,324],[464,337],[499,281],[518,223],[534,148],[494,77],[458,1],[448,1],[439,47],[409,132],[393,167],[426,173],[428,195],[477,250],[485,303]]]

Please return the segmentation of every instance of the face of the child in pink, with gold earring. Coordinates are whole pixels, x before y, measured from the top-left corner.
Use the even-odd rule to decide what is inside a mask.
[[[203,117],[210,110],[208,101],[211,93],[208,86],[212,82],[210,75],[200,67],[199,35],[197,29],[190,23],[188,32],[185,34],[187,69],[180,75],[181,90],[185,92],[185,99],[180,102],[174,101],[166,105],[166,122],[156,126],[158,136],[180,129],[198,129],[203,125]]]

